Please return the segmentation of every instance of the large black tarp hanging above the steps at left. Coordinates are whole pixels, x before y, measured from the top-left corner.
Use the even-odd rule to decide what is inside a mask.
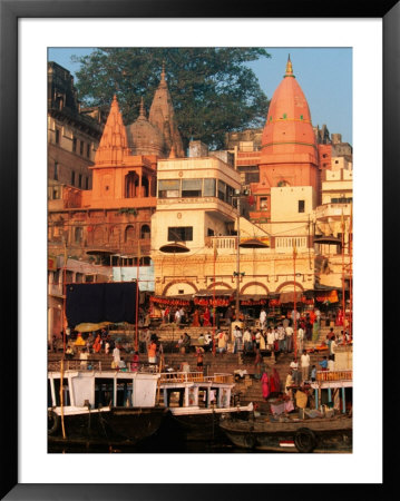
[[[66,287],[68,325],[136,322],[136,283],[69,284]]]

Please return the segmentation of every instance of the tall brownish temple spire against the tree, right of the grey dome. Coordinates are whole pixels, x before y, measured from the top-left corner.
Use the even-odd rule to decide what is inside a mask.
[[[165,68],[163,67],[162,79],[154,95],[148,120],[162,131],[165,143],[166,157],[169,157],[174,147],[176,157],[185,156],[182,138],[176,125],[173,100],[165,80]]]

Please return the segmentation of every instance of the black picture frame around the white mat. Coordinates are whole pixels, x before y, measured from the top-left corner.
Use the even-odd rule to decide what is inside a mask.
[[[295,0],[253,2],[189,2],[183,0],[0,0],[0,159],[1,159],[1,214],[2,217],[2,347],[1,363],[2,385],[2,440],[1,440],[1,499],[7,500],[199,500],[211,499],[254,499],[265,495],[322,495],[324,499],[348,498],[351,488],[330,483],[329,479],[340,475],[339,471],[326,472],[326,484],[311,488],[309,483],[318,483],[312,472],[304,472],[309,483],[304,484],[262,484],[253,483],[253,479],[243,479],[241,484],[207,484],[204,475],[198,484],[20,484],[18,481],[18,19],[21,18],[381,18],[383,21],[383,233],[384,262],[390,264],[383,269],[383,283],[390,285],[397,272],[398,256],[396,252],[396,206],[398,198],[400,158],[400,6],[396,0],[367,3],[347,2],[299,2]],[[371,97],[373,99],[373,97]],[[396,254],[394,254],[396,253]],[[389,269],[390,267],[390,269]],[[383,305],[383,318],[397,310],[394,298],[389,297]],[[391,325],[396,325],[391,324]],[[378,328],[371,322],[371,328]],[[396,334],[396,332],[392,332]],[[394,367],[396,350],[393,342],[386,342],[384,367]],[[394,347],[394,346],[393,346]],[[371,374],[373,376],[373,374]],[[388,381],[388,379],[387,379]],[[388,401],[389,389],[382,389],[383,399]],[[386,444],[389,445],[392,423],[386,421]],[[371,431],[373,432],[373,431]],[[384,448],[388,453],[389,446]],[[390,452],[389,452],[390,453]],[[238,461],[241,463],[243,460]],[[238,470],[241,466],[238,465]],[[382,484],[368,484],[368,492],[378,498],[383,489],[390,489],[396,466],[384,472]],[[235,472],[231,472],[231,474]],[[70,477],[69,477],[70,478]],[[289,477],[290,482],[290,477]],[[308,490],[308,494],[305,494]]]

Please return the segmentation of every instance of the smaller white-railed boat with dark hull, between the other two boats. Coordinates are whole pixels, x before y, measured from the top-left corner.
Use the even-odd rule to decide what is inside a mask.
[[[232,374],[206,376],[202,372],[160,374],[159,389],[169,419],[177,424],[184,440],[212,440],[221,434],[218,423],[227,415],[248,419],[253,403],[233,403]]]

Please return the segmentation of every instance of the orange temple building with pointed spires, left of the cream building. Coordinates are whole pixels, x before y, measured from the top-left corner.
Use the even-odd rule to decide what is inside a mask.
[[[57,193],[48,200],[52,263],[67,252],[76,259],[109,266],[116,281],[138,278],[142,291],[154,289],[150,218],[156,208],[157,159],[182,154],[164,71],[152,109],[154,124],[146,118],[142,102],[137,120],[125,127],[115,97],[94,161],[87,167],[91,189],[52,179],[52,195]],[[50,325],[57,332],[59,322]]]

